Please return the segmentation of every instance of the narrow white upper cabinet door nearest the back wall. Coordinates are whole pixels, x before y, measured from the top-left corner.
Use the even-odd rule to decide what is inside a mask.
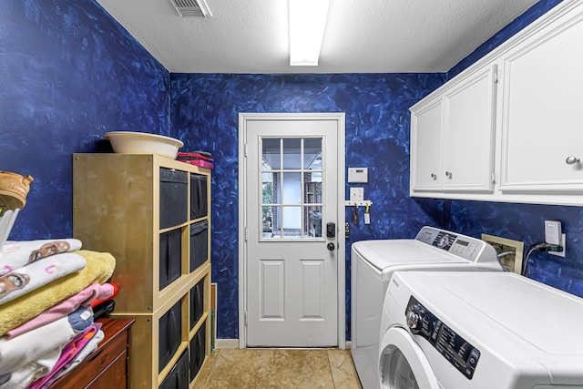
[[[411,189],[440,190],[442,100],[430,100],[411,111]]]

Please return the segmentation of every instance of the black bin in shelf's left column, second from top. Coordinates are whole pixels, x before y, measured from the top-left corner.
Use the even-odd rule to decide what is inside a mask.
[[[160,291],[179,279],[182,273],[181,256],[182,234],[180,229],[161,233],[159,255]]]

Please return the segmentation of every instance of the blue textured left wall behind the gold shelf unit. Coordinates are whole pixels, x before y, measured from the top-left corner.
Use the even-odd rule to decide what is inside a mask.
[[[72,235],[74,152],[169,133],[169,73],[93,0],[3,0],[0,169],[35,178],[12,240]]]

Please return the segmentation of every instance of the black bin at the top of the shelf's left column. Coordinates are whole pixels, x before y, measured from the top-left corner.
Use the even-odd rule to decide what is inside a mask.
[[[160,168],[160,229],[186,221],[189,181],[186,171]]]

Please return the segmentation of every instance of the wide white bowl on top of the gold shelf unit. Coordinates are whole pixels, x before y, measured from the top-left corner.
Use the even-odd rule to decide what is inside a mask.
[[[176,159],[179,148],[184,146],[179,139],[145,132],[111,131],[105,138],[111,142],[113,150],[121,154],[157,154]]]

